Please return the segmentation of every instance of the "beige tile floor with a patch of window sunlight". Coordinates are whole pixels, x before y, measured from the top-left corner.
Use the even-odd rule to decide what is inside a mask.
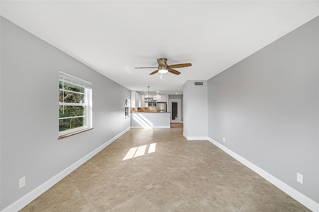
[[[21,212],[309,211],[182,130],[131,129]]]

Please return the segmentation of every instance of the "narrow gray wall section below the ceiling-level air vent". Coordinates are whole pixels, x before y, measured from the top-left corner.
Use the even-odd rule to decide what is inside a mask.
[[[207,137],[207,81],[194,86],[188,80],[183,85],[183,132],[189,137]]]

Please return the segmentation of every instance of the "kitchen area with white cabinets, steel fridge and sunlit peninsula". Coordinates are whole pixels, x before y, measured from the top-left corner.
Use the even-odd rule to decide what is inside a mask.
[[[131,128],[170,128],[168,94],[141,95],[131,91]]]

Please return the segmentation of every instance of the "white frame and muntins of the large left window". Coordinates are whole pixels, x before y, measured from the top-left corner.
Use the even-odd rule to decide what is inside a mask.
[[[59,92],[62,91],[63,95],[64,95],[64,92],[69,92],[69,93],[84,95],[84,98],[83,98],[83,103],[60,102],[60,98],[59,98],[59,110],[60,110],[60,106],[85,106],[85,110],[84,110],[85,114],[69,116],[69,117],[60,117],[60,114],[59,114],[59,122],[61,119],[85,117],[84,119],[85,124],[83,126],[79,126],[79,127],[75,127],[75,128],[67,129],[63,131],[60,131],[60,125],[59,125],[59,136],[68,135],[68,134],[76,133],[78,131],[83,131],[83,130],[92,128],[92,83],[84,79],[81,79],[79,77],[76,77],[74,75],[71,75],[69,73],[63,72],[61,70],[59,72],[59,85],[60,85],[60,82],[63,83],[63,87],[62,89],[60,89],[60,86],[59,86]],[[65,90],[64,83],[68,83],[74,86],[84,88],[84,93]]]

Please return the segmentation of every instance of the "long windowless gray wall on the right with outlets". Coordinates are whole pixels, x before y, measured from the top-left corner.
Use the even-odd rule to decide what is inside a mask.
[[[319,203],[319,17],[208,80],[208,136]]]

